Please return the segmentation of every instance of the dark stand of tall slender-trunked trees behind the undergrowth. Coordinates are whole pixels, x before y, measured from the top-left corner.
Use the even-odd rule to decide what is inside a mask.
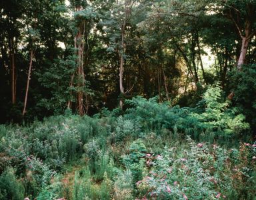
[[[123,108],[137,95],[194,106],[217,82],[226,96],[236,93],[233,103],[253,121],[247,106],[255,97],[243,94],[255,83],[238,76],[255,68],[255,6],[249,0],[1,1],[1,123],[67,109],[93,115]]]

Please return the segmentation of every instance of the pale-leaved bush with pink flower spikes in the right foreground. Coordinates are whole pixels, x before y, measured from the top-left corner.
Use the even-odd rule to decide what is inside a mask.
[[[238,154],[206,143],[188,140],[189,149],[165,149],[151,157],[149,174],[137,182],[140,197],[156,199],[250,199],[255,195],[255,167],[245,164],[251,147],[241,146]],[[242,155],[239,155],[242,153]],[[254,163],[255,161],[253,161]],[[245,167],[247,166],[247,167]],[[251,182],[251,181],[249,181]],[[245,187],[245,185],[247,185]],[[245,189],[247,188],[247,189]]]

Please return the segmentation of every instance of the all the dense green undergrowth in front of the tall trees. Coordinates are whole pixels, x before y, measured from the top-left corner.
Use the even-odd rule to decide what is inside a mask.
[[[255,198],[256,144],[220,87],[197,107],[169,104],[1,125],[0,199]]]

